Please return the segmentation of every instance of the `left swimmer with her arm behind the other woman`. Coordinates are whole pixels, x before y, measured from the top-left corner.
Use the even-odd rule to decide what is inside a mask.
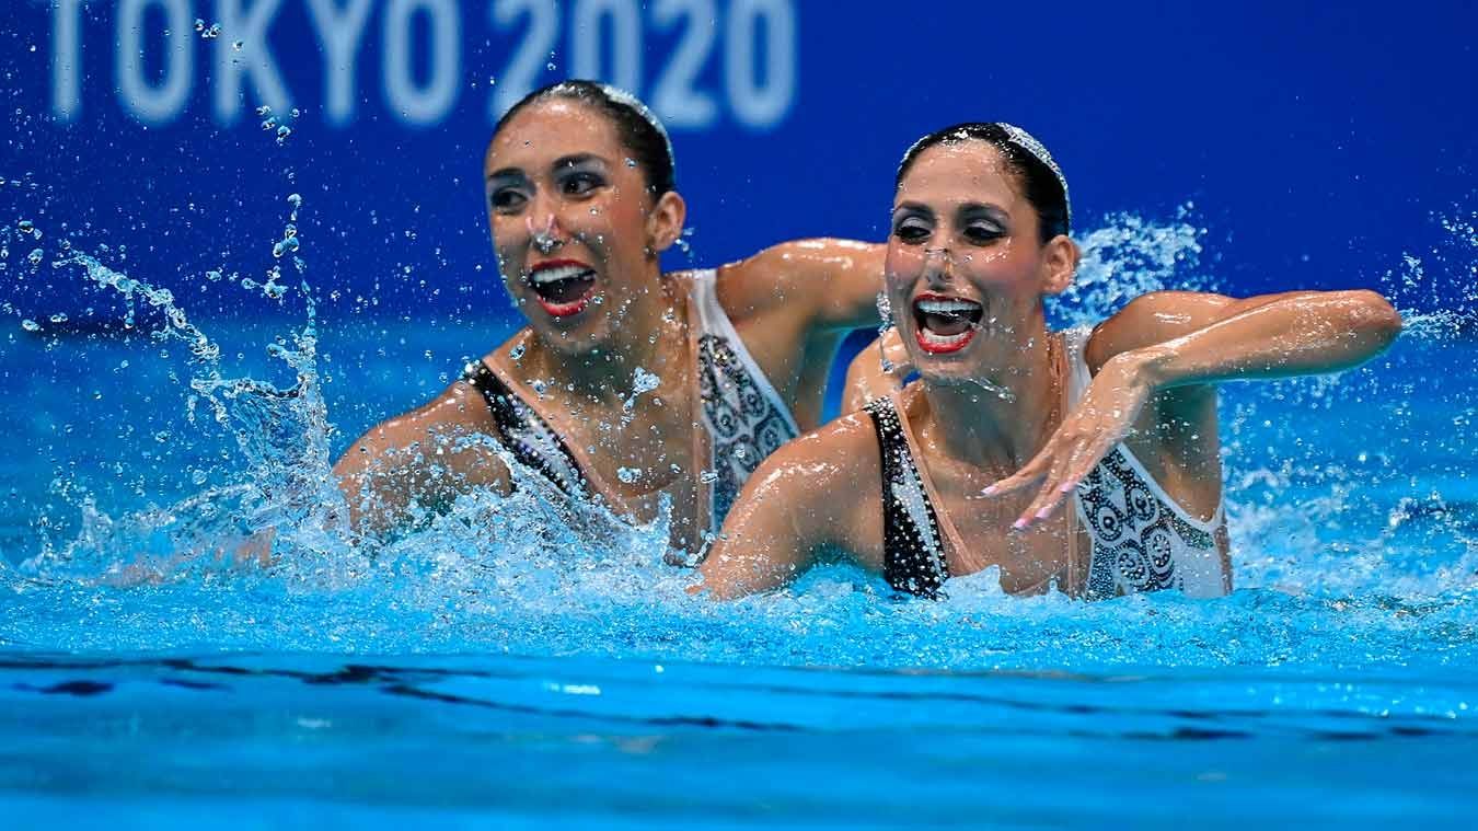
[[[565,81],[516,104],[485,157],[504,285],[528,325],[334,466],[352,523],[507,491],[516,464],[650,520],[674,553],[712,538],[748,475],[820,421],[841,339],[878,324],[882,245],[806,240],[662,274],[683,234],[667,132],[636,98]]]

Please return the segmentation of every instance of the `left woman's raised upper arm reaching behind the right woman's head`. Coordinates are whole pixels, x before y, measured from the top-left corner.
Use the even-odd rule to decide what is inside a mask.
[[[794,240],[726,266],[724,306],[735,316],[795,315],[806,328],[876,325],[884,247],[854,240]]]

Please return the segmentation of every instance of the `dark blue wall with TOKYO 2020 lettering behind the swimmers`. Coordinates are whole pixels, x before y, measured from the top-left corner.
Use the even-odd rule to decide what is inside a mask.
[[[106,244],[114,263],[126,245],[130,274],[180,293],[208,269],[260,277],[299,192],[324,318],[508,315],[482,148],[500,104],[591,65],[640,77],[647,98],[667,81],[708,102],[653,101],[675,121],[705,265],[803,235],[881,238],[902,151],[961,120],[1042,138],[1080,228],[1194,203],[1215,277],[1237,293],[1376,285],[1403,253],[1441,242],[1434,214],[1475,204],[1472,3],[365,3],[361,37],[334,30],[355,44],[353,67],[334,69],[309,0],[9,0],[0,219],[31,219],[49,245]],[[232,22],[251,10],[262,37]],[[133,30],[137,67],[120,58]],[[696,74],[672,84],[684,52]],[[520,78],[520,58],[537,72]],[[263,62],[287,101],[238,75]],[[333,77],[349,93],[337,105]],[[300,111],[281,145],[260,127],[263,101]],[[28,272],[21,254],[0,290],[18,315],[86,316],[72,277]],[[1428,278],[1409,302],[1440,305],[1471,274],[1437,265]],[[241,313],[239,296],[192,313]]]

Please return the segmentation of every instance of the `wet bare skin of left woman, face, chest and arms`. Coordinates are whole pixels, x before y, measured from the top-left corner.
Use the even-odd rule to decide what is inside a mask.
[[[675,192],[655,197],[615,126],[571,99],[514,115],[483,172],[498,266],[528,321],[486,362],[584,455],[612,507],[647,520],[667,494],[674,547],[696,549],[702,427],[689,282],[659,263],[681,235],[686,204]],[[841,240],[785,242],[720,269],[720,303],[801,429],[819,421],[841,339],[875,325],[881,272],[881,245]],[[637,368],[659,384],[633,396]],[[489,433],[488,407],[466,383],[374,427],[336,466],[355,522],[389,529],[412,504],[505,489],[508,470],[492,448],[464,441]],[[417,461],[426,447],[442,451],[435,470]]]

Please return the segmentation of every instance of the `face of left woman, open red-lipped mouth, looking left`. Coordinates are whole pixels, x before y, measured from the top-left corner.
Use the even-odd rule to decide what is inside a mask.
[[[653,200],[646,173],[599,109],[534,104],[494,136],[483,161],[488,222],[508,294],[563,353],[600,347],[658,296],[658,253],[683,228],[677,194]]]

